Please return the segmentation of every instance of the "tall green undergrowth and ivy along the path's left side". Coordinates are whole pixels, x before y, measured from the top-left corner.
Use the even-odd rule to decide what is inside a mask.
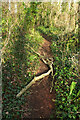
[[[32,12],[29,12],[28,9],[31,10],[31,8],[27,8],[27,10],[22,11],[21,16],[17,16],[17,23],[13,23],[9,38],[8,32],[6,33],[9,26],[5,26],[4,24],[6,23],[6,17],[2,20],[2,47],[4,48],[2,54],[3,119],[16,120],[21,118],[24,112],[22,107],[23,104],[25,105],[26,103],[25,97],[27,94],[30,94],[30,92],[27,91],[18,99],[16,95],[32,80],[39,66],[38,56],[27,45],[36,51],[39,49],[43,38],[38,31],[34,30],[34,21],[29,23],[29,21],[34,20],[34,17],[28,17],[28,14],[30,15]],[[8,12],[8,10],[6,12]],[[11,18],[11,14],[9,13],[8,16],[8,24],[11,24],[10,21],[15,20],[15,17]],[[19,17],[23,19],[21,20]],[[7,42],[6,46],[5,41]]]

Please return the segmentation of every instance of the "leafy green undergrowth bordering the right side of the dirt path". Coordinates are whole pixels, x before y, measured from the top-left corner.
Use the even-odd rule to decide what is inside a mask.
[[[59,119],[79,119],[78,34],[63,34],[63,32],[60,33],[60,29],[43,26],[39,27],[39,31],[52,37],[51,50],[54,56],[55,86],[53,88],[56,90],[56,116]],[[53,116],[51,115],[51,118]]]

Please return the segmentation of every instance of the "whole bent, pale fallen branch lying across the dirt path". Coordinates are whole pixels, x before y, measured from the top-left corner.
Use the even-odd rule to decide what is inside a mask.
[[[28,46],[30,47],[30,46]],[[31,48],[31,47],[30,47]],[[48,76],[50,73],[53,76],[53,58],[47,58],[46,60],[44,59],[44,56],[40,55],[38,52],[36,52],[33,48],[31,48],[34,53],[36,53],[44,62],[44,64],[49,66],[49,70],[46,73],[41,74],[40,76],[34,77],[34,79],[25,87],[23,88],[17,95],[16,97],[20,97],[28,88],[30,88],[36,81]]]

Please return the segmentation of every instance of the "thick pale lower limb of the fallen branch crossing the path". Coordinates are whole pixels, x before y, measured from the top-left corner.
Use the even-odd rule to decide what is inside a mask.
[[[51,73],[51,69],[47,72],[47,73],[44,73],[38,77],[35,77],[25,88],[23,88],[18,94],[16,97],[20,97],[28,88],[30,88],[36,81],[46,77],[47,75],[49,75]]]

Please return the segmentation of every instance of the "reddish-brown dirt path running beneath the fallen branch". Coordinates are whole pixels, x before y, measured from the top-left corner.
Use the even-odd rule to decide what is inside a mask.
[[[50,50],[51,42],[46,39],[43,42],[39,53],[46,57],[52,57]],[[36,74],[39,75],[45,71],[48,71],[48,67],[40,60],[40,67]],[[52,110],[54,111],[55,105],[52,99],[55,99],[55,92],[49,92],[51,78],[47,76],[40,81],[31,87],[30,95],[27,96],[25,107],[23,107],[23,118],[49,118]]]

